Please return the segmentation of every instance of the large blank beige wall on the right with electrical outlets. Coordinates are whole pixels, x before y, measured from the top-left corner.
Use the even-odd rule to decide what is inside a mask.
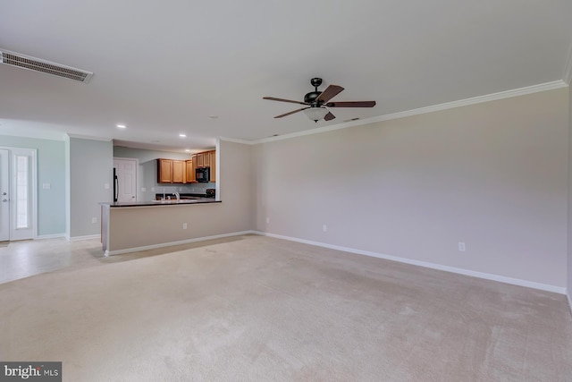
[[[566,287],[568,89],[254,151],[259,231]]]

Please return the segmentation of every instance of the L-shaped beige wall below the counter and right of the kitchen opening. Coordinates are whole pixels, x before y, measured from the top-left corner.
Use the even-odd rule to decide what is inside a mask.
[[[222,203],[111,208],[109,248],[112,252],[240,233],[254,226],[252,146],[221,141]],[[183,230],[183,223],[188,229]]]

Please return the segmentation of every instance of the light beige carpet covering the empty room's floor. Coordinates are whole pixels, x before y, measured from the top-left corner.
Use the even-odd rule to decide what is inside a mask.
[[[121,255],[120,255],[121,256]],[[65,381],[570,381],[565,297],[248,235],[0,284]]]

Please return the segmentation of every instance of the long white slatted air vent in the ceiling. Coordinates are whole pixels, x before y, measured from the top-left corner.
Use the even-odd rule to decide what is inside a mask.
[[[0,53],[2,53],[2,55],[0,55],[0,64],[17,66],[19,68],[29,69],[30,71],[43,72],[80,82],[88,82],[93,75],[92,72],[51,63],[46,60],[40,60],[39,58],[21,55],[20,53],[10,52],[4,49],[0,49]]]

